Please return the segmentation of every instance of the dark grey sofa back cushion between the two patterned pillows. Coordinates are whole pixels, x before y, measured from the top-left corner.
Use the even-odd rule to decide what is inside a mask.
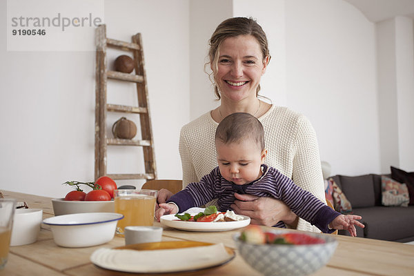
[[[372,175],[348,177],[341,175],[341,186],[353,208],[375,206],[374,181]]]

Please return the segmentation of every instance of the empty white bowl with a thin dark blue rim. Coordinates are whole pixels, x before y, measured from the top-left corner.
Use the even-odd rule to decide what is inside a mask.
[[[80,213],[49,217],[43,224],[50,226],[58,246],[88,247],[109,242],[123,217],[117,213]]]

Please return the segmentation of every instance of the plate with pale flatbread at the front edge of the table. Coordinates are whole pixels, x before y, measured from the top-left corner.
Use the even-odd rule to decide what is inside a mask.
[[[126,273],[184,273],[227,264],[235,250],[206,242],[150,242],[99,248],[90,261],[99,268]]]

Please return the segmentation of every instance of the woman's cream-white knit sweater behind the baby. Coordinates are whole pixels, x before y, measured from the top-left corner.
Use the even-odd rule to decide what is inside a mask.
[[[259,117],[259,121],[264,127],[265,147],[268,150],[265,163],[325,202],[319,148],[310,121],[304,115],[274,105]],[[217,126],[209,111],[181,128],[179,153],[184,186],[198,182],[218,166],[214,142]],[[320,232],[304,219],[299,219],[297,229]]]

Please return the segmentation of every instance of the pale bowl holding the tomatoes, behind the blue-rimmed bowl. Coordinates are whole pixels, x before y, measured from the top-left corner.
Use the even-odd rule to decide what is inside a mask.
[[[111,201],[68,201],[52,199],[53,212],[57,215],[78,213],[114,213],[115,203]]]

